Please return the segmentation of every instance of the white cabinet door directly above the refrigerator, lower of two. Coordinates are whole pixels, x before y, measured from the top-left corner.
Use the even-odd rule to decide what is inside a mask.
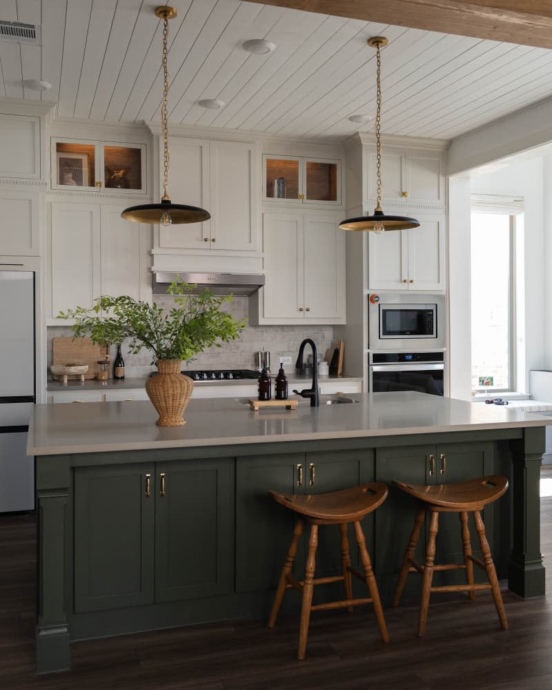
[[[42,204],[38,192],[0,189],[0,255],[40,255]]]

